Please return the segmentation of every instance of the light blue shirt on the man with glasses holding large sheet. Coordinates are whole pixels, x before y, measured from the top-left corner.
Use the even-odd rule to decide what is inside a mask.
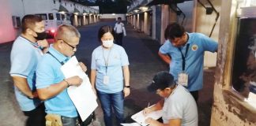
[[[37,89],[50,87],[64,80],[60,62],[68,61],[70,58],[59,53],[53,46],[50,46],[49,52],[54,57],[51,54],[45,54],[36,69]],[[73,105],[67,89],[44,101],[44,105],[47,113],[55,113],[64,117],[77,117],[77,109]]]

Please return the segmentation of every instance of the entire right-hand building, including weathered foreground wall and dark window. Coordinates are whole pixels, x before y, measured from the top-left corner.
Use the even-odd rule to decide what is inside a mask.
[[[205,66],[216,66],[210,124],[256,125],[256,1],[137,0],[128,10],[128,22],[160,44],[171,22],[215,39],[218,53],[205,53]]]

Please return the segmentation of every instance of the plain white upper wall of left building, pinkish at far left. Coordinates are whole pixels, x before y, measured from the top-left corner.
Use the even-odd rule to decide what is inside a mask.
[[[58,0],[55,0],[55,3],[53,0],[0,0],[0,43],[13,41],[20,34],[19,28],[13,28],[12,16],[22,19],[25,14],[58,12],[60,4],[70,13],[73,12],[73,2],[68,0],[62,0],[61,3]],[[75,3],[75,7],[81,13],[84,9],[92,13],[99,12],[97,7],[91,8],[78,3]]]

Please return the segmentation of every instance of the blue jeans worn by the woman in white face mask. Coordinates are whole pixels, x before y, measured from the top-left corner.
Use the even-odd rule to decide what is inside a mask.
[[[117,92],[113,94],[107,94],[97,91],[98,98],[100,98],[101,108],[104,111],[104,122],[106,126],[113,126],[112,124],[112,108],[115,111],[115,117],[118,125],[124,120],[123,110],[123,92]]]

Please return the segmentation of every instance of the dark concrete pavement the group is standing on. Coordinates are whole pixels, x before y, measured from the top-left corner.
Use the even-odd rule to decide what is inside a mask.
[[[97,31],[100,26],[113,22],[100,22],[78,28],[81,32],[81,43],[78,46],[77,58],[90,68],[92,50],[100,46],[97,41]],[[126,122],[133,122],[130,116],[137,113],[148,102],[155,103],[159,97],[146,91],[146,87],[156,72],[168,70],[157,51],[160,47],[149,36],[135,31],[130,25],[126,25],[127,36],[123,39],[123,47],[130,60],[130,85],[131,94],[125,100]],[[9,53],[11,44],[0,45],[0,126],[24,126],[26,117],[19,109],[13,94],[13,82],[9,78]],[[90,73],[89,70],[87,73]],[[204,76],[204,88],[199,93],[198,111],[199,126],[209,126],[211,106],[213,102],[214,69],[206,69]],[[104,125],[103,113],[100,107],[96,109],[96,118]]]

